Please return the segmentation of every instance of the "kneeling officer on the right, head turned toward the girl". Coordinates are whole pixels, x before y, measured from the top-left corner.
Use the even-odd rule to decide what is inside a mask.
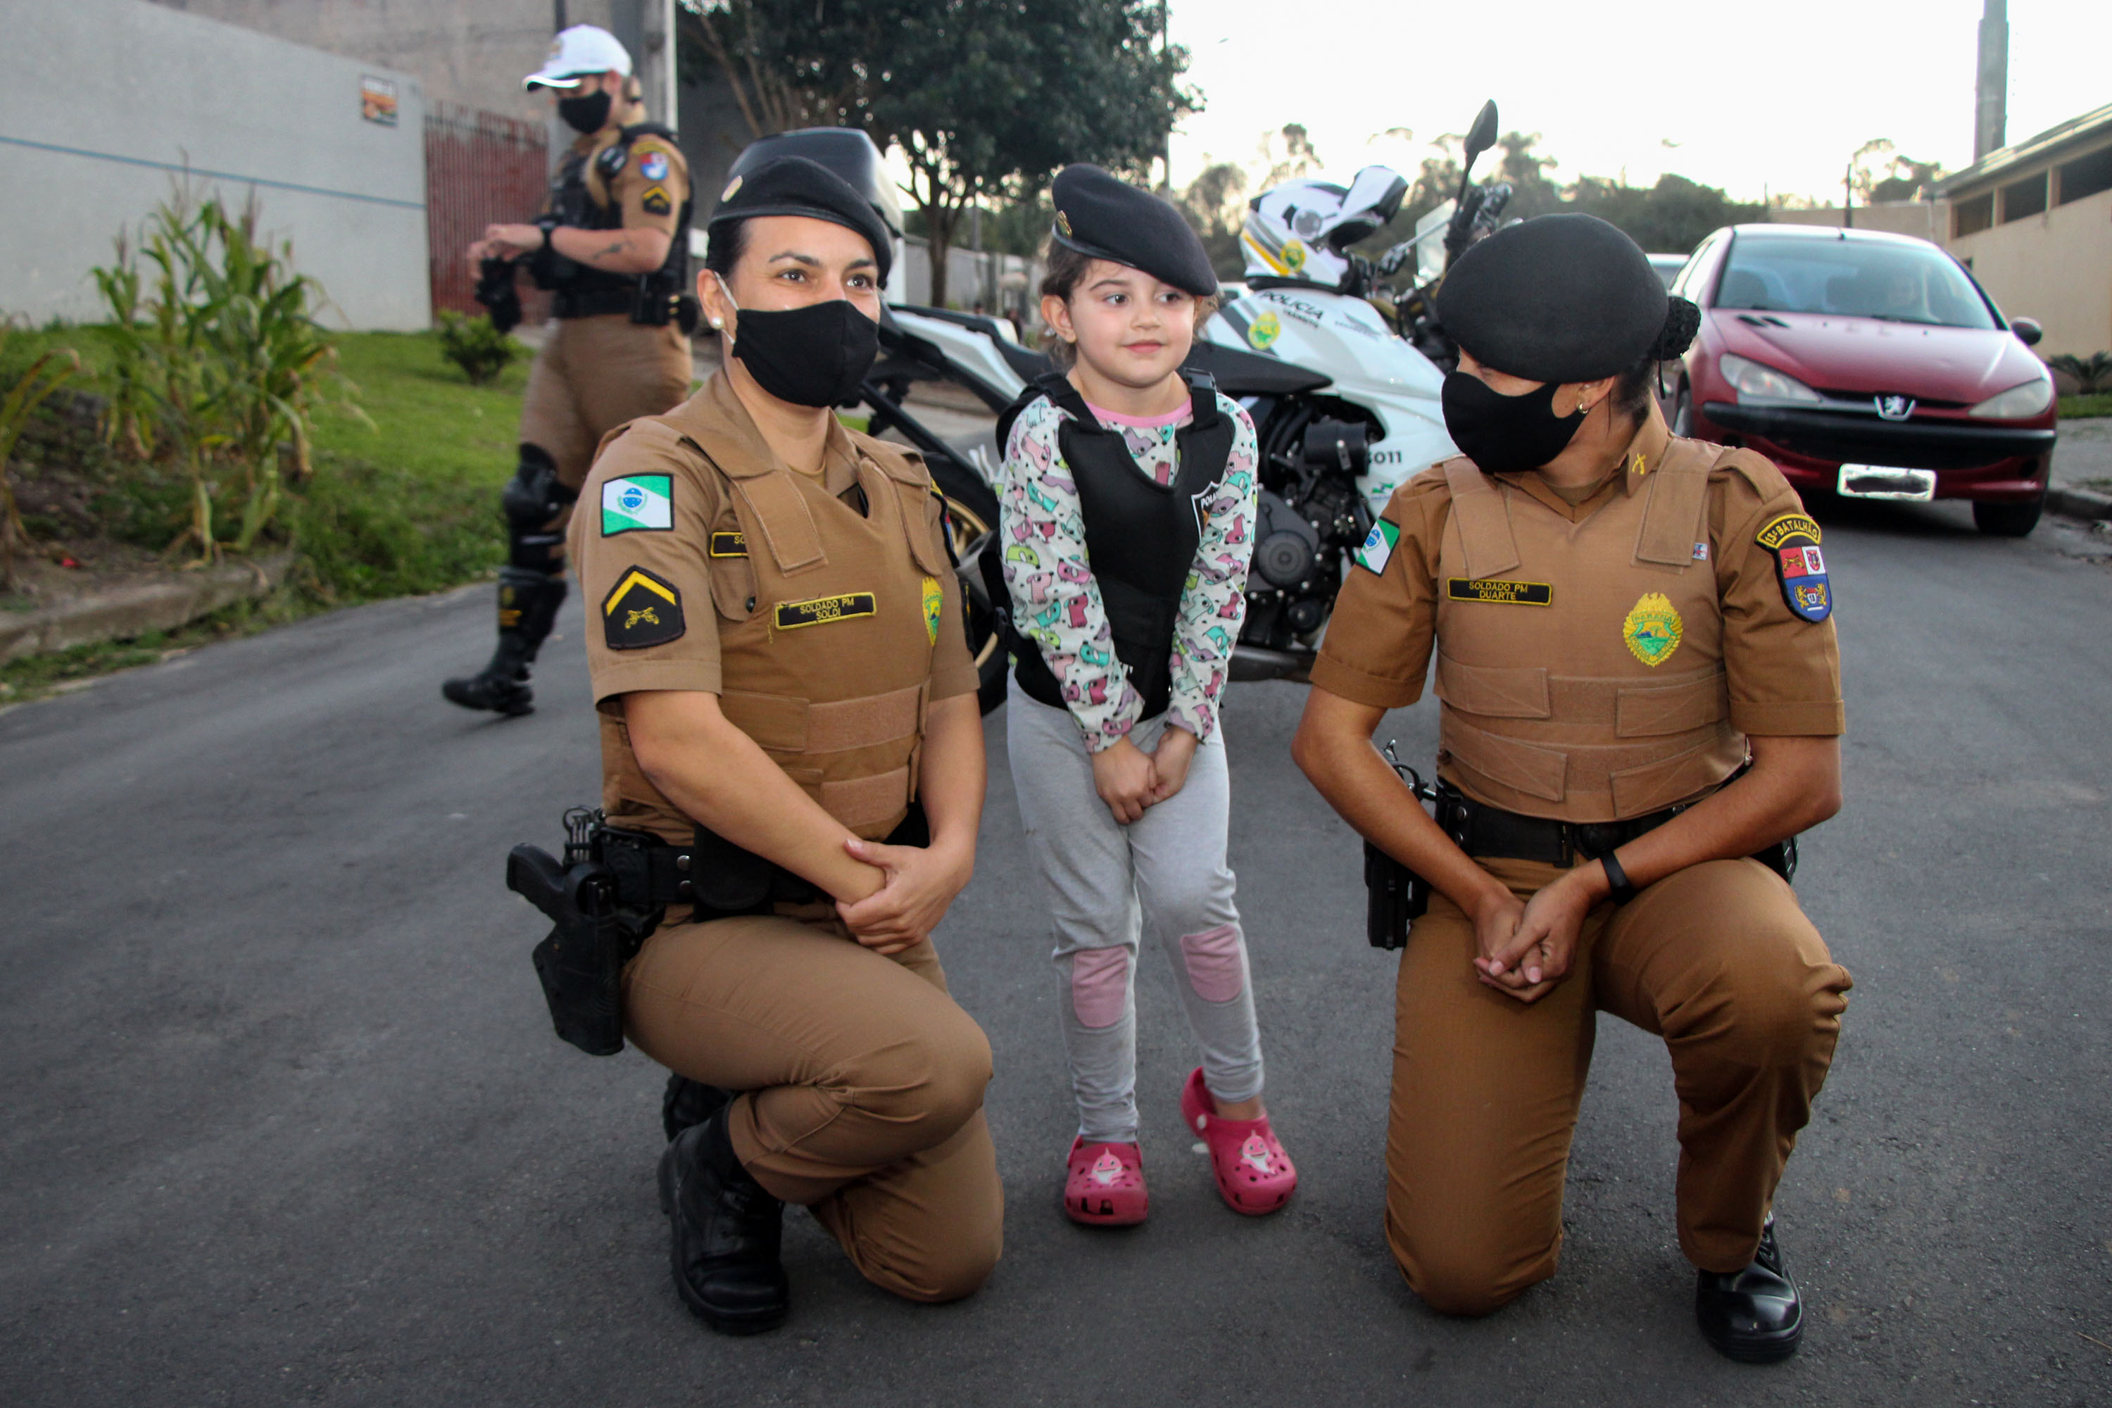
[[[1840,806],[1821,530],[1766,458],[1666,433],[1656,369],[1698,312],[1614,226],[1500,230],[1438,317],[1464,454],[1404,483],[1356,553],[1295,743],[1335,811],[1434,887],[1396,990],[1388,1243],[1453,1315],[1554,1275],[1611,1011],[1671,1051],[1700,1330],[1780,1359],[1804,1311],[1774,1191],[1848,992],[1776,849]],[[1432,654],[1440,821],[1371,747]]]

